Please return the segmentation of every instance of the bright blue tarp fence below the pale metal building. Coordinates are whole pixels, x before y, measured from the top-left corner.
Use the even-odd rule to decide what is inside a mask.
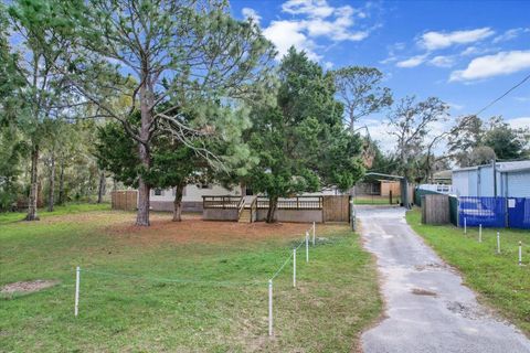
[[[465,221],[464,221],[465,220]],[[530,229],[530,199],[458,197],[458,225]]]

